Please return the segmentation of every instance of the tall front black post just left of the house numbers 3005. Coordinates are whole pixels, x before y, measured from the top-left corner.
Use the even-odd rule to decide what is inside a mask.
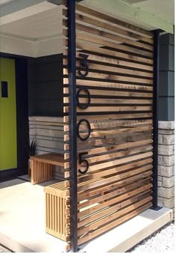
[[[69,147],[70,147],[70,238],[71,251],[78,252],[77,203],[77,120],[76,120],[76,49],[75,0],[67,0],[69,58]]]

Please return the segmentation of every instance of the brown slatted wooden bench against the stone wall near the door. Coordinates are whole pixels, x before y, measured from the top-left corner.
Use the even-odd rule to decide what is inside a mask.
[[[31,183],[37,184],[54,179],[54,165],[64,166],[64,155],[61,153],[45,153],[31,156]]]

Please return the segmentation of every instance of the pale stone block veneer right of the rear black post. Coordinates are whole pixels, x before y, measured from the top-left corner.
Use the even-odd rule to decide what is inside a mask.
[[[159,121],[158,205],[175,207],[175,121]]]

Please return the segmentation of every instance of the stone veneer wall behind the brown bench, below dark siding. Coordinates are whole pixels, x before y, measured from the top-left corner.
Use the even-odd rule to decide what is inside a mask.
[[[63,153],[63,118],[29,117],[29,135],[37,142],[37,155]],[[63,167],[56,166],[54,178],[63,180]]]

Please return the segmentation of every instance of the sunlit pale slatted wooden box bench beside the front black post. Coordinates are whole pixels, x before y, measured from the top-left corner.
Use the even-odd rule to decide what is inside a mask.
[[[68,182],[46,186],[45,231],[63,241],[69,241],[69,187]]]

